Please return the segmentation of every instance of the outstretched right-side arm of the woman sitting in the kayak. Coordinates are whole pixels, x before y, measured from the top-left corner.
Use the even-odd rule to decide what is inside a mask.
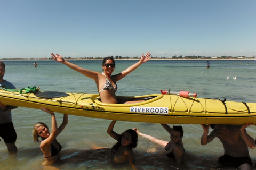
[[[130,67],[128,67],[126,70],[122,71],[121,73],[113,75],[113,77],[115,78],[116,81],[123,79],[127,74],[129,74],[132,71],[134,71],[135,69],[137,69],[141,64],[149,61],[150,58],[151,58],[151,54],[149,52],[146,54],[146,56],[144,56],[144,53],[143,53],[139,62],[131,65]]]

